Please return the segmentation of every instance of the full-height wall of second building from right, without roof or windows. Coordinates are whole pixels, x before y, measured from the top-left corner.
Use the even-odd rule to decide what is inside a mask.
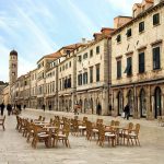
[[[96,54],[96,47],[99,46],[99,54]],[[90,57],[90,50],[93,50],[93,57]],[[87,58],[83,55],[87,52]],[[77,83],[77,103],[82,102],[82,113],[96,114],[96,107],[101,105],[101,115],[108,115],[109,95],[108,83],[110,81],[110,42],[107,38],[95,42],[87,48],[84,48],[77,55],[77,81],[78,74],[87,72],[87,84],[78,85]],[[81,56],[82,61],[78,61]],[[99,65],[99,82],[96,82],[96,66]],[[93,67],[93,83],[90,83],[90,68]]]

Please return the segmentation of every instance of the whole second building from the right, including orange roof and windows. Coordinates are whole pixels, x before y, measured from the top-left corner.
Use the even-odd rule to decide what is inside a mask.
[[[109,114],[112,32],[113,28],[102,28],[94,34],[94,40],[77,54],[75,94],[81,113]]]

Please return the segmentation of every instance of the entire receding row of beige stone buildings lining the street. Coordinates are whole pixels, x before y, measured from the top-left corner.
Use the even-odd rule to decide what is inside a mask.
[[[65,112],[78,105],[80,113],[112,116],[129,104],[134,118],[164,115],[164,1],[143,0],[132,14],[115,17],[114,28],[44,56],[35,70],[11,79],[12,102]]]

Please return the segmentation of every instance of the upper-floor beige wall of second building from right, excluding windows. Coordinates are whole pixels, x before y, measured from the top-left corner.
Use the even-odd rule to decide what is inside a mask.
[[[81,85],[81,86],[78,85],[77,86],[78,91],[98,87],[98,86],[102,86],[105,84],[105,75],[106,75],[105,70],[104,70],[105,43],[106,43],[106,39],[103,39],[103,40],[98,42],[97,44],[81,50],[77,55],[77,60],[78,60],[79,56],[82,57],[81,62],[77,61],[77,79],[78,79],[79,73],[87,72],[87,84]],[[98,55],[96,55],[96,52],[95,52],[97,46],[99,46],[99,54]],[[90,50],[93,50],[93,57],[90,57]],[[86,52],[87,52],[87,58],[83,59],[83,55]],[[96,72],[96,65],[99,65],[99,69],[101,69],[99,82],[96,82],[96,73],[95,73]],[[90,83],[90,67],[93,67],[93,83]]]

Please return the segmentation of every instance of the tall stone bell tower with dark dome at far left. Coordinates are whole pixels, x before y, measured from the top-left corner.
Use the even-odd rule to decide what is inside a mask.
[[[9,84],[10,86],[16,81],[17,79],[17,51],[12,50],[10,51],[10,59],[9,59]]]

